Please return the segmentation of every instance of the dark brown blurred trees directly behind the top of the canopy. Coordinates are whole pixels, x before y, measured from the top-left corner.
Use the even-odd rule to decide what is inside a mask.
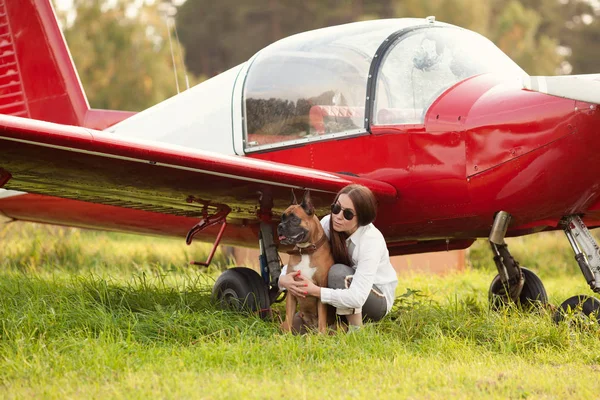
[[[177,12],[185,63],[211,77],[295,33],[393,16],[393,0],[187,0]]]

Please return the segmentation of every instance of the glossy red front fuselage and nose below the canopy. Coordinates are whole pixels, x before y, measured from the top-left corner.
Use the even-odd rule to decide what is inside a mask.
[[[252,156],[394,185],[399,200],[376,221],[390,243],[484,237],[499,210],[513,214],[509,236],[554,229],[600,198],[600,113],[501,82],[456,85],[421,127],[373,126],[371,135]]]

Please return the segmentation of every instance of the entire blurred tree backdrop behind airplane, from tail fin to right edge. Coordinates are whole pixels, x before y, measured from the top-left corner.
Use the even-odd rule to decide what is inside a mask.
[[[193,85],[283,37],[374,18],[435,15],[488,37],[531,75],[600,71],[600,10],[588,0],[173,1],[74,0],[61,14],[93,107],[137,111],[176,94],[169,34],[183,90],[186,72]]]

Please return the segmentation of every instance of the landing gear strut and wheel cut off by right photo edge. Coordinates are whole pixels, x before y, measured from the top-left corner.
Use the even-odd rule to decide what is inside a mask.
[[[579,216],[570,215],[563,218],[561,226],[590,289],[600,293],[600,247]],[[569,314],[592,317],[600,322],[600,300],[585,295],[570,297],[560,305],[554,315],[554,321],[559,322]]]

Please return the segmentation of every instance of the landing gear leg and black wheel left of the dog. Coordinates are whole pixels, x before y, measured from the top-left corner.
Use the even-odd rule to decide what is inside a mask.
[[[273,241],[273,228],[265,222],[260,226],[259,246],[260,275],[250,268],[236,267],[223,272],[215,282],[212,298],[221,308],[255,312],[261,318],[271,315],[271,304],[279,294],[281,261]]]

